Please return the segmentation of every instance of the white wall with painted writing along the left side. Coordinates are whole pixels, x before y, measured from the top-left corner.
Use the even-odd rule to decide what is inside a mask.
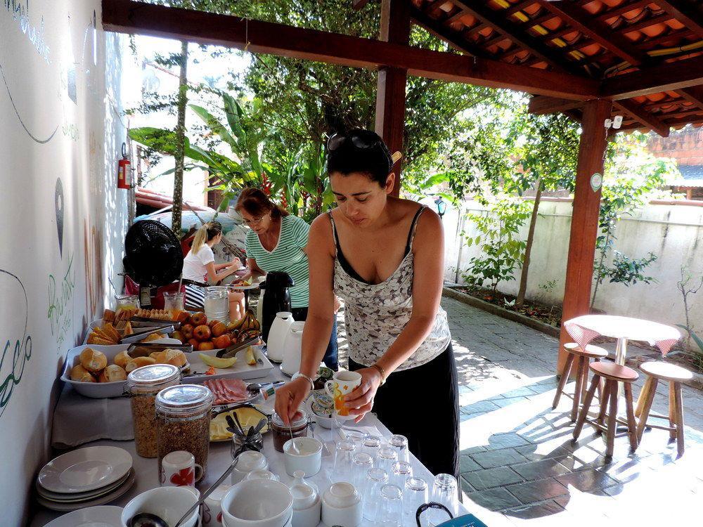
[[[62,358],[122,287],[123,46],[100,20],[99,0],[0,3],[3,526],[32,506]]]

